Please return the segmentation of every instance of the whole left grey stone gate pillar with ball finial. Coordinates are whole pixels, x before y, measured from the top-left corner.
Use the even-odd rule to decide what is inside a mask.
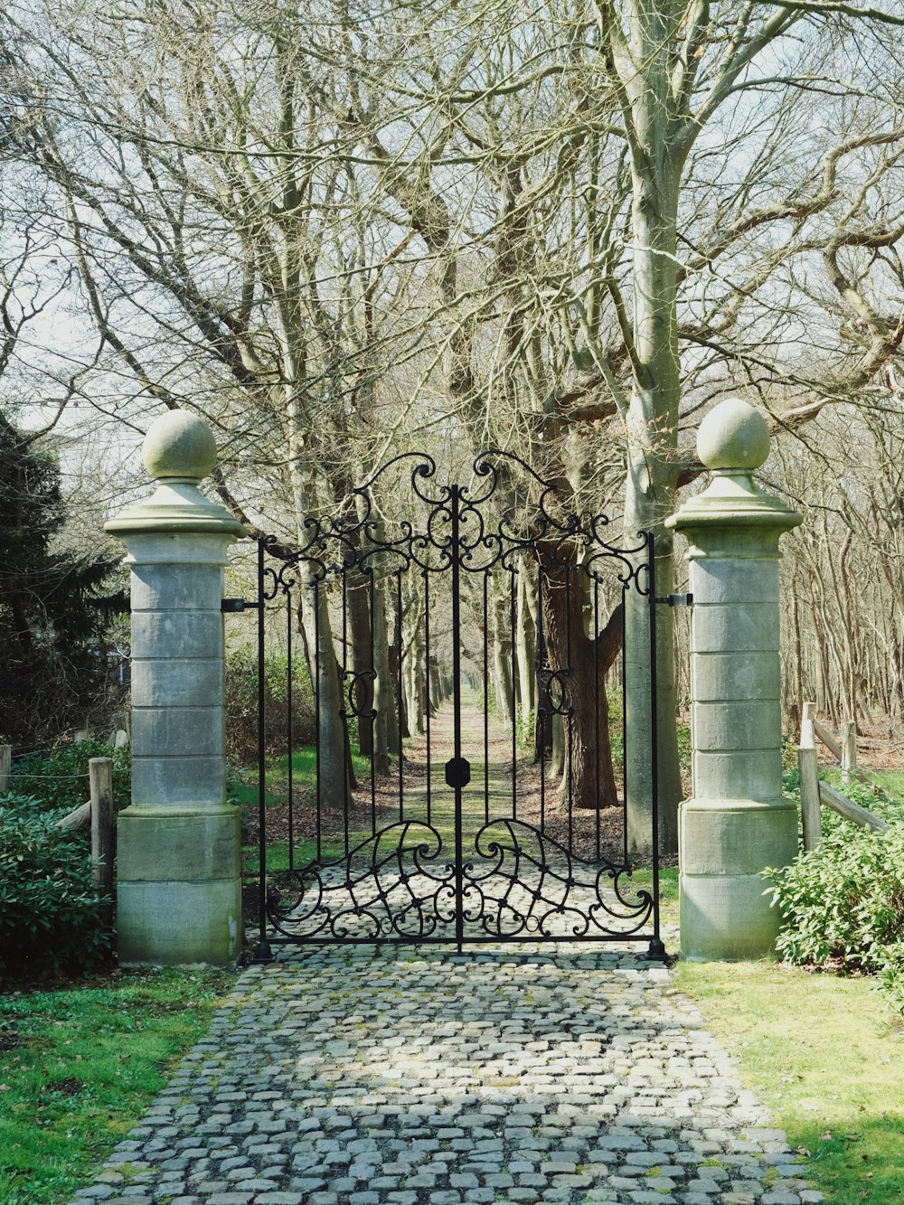
[[[131,806],[117,825],[125,965],[234,963],[241,951],[239,810],[225,803],[223,566],[245,529],[198,489],[217,448],[183,410],[154,422],[151,498],[107,523],[131,568]]]

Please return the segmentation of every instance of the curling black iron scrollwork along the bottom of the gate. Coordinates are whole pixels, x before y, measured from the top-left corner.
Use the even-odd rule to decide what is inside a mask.
[[[381,829],[334,863],[274,876],[268,916],[292,941],[630,940],[653,897],[624,868],[575,858],[536,827],[504,817],[477,833],[462,868],[422,822]]]

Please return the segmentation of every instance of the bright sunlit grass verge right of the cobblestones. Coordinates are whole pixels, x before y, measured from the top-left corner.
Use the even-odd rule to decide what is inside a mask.
[[[837,1205],[902,1200],[904,1027],[869,978],[779,963],[680,963],[676,983]]]

